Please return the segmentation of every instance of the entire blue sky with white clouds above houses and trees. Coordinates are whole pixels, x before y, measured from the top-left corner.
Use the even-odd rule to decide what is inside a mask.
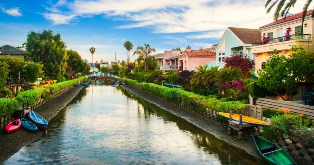
[[[126,60],[123,43],[144,43],[156,53],[172,48],[210,47],[230,27],[255,28],[272,21],[266,0],[4,0],[0,2],[0,45],[19,46],[29,31],[51,29],[60,33],[67,49],[83,59]],[[290,13],[299,13],[298,0]],[[310,5],[313,6],[313,5]]]

